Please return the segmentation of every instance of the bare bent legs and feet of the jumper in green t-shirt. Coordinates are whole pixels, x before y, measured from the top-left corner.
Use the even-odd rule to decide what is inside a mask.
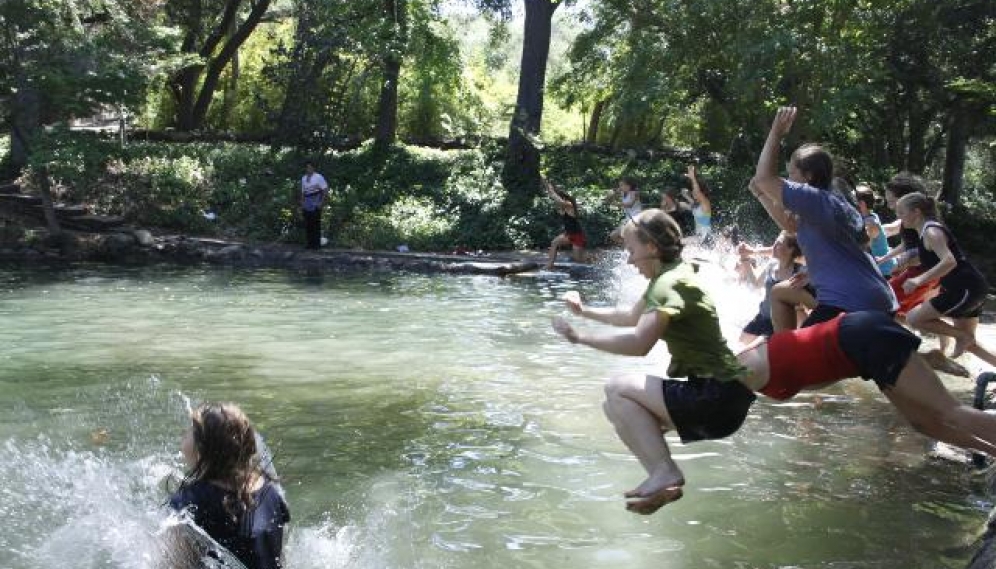
[[[626,492],[627,498],[641,498],[628,503],[627,509],[652,514],[679,499],[685,477],[664,440],[664,432],[674,425],[664,405],[663,380],[639,374],[615,376],[605,386],[602,408],[648,474],[639,486]]]

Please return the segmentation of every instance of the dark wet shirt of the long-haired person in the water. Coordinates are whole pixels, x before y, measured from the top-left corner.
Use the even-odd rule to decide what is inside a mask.
[[[280,569],[284,525],[290,511],[276,484],[267,481],[253,493],[255,506],[238,520],[225,510],[225,497],[235,494],[198,480],[170,498],[174,510],[187,509],[198,526],[234,554],[248,569]]]

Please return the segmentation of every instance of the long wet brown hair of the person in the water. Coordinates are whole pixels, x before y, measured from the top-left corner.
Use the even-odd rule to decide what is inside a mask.
[[[256,431],[249,418],[231,403],[205,403],[190,414],[197,462],[180,488],[198,480],[218,481],[235,493],[224,507],[233,519],[252,508],[250,484],[257,470]]]

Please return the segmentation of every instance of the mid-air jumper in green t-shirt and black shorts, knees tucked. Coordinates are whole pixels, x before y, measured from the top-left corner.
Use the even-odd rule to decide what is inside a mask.
[[[755,396],[737,381],[746,370],[726,345],[712,299],[681,260],[681,231],[674,219],[659,209],[643,211],[623,228],[622,238],[629,264],[650,279],[643,297],[628,308],[593,308],[576,291],[565,295],[574,314],[620,330],[578,331],[560,317],[553,326],[572,343],[620,355],[643,356],[657,342],[667,344],[667,378],[615,376],[605,386],[602,406],[647,472],[626,492],[626,509],[652,514],[681,498],[685,485],[663,433],[675,430],[685,443],[729,436]]]

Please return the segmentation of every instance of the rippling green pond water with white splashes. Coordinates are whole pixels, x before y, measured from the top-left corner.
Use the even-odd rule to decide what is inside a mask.
[[[756,293],[706,276],[735,339]],[[572,346],[549,321],[567,290],[610,304],[643,285],[611,264],[585,280],[0,269],[0,567],[150,567],[187,406],[214,400],[274,451],[291,569],[965,566],[984,481],[926,458],[856,380],[760,400],[723,441],[672,441],[685,498],[626,512],[643,472],[601,386],[667,354]]]

